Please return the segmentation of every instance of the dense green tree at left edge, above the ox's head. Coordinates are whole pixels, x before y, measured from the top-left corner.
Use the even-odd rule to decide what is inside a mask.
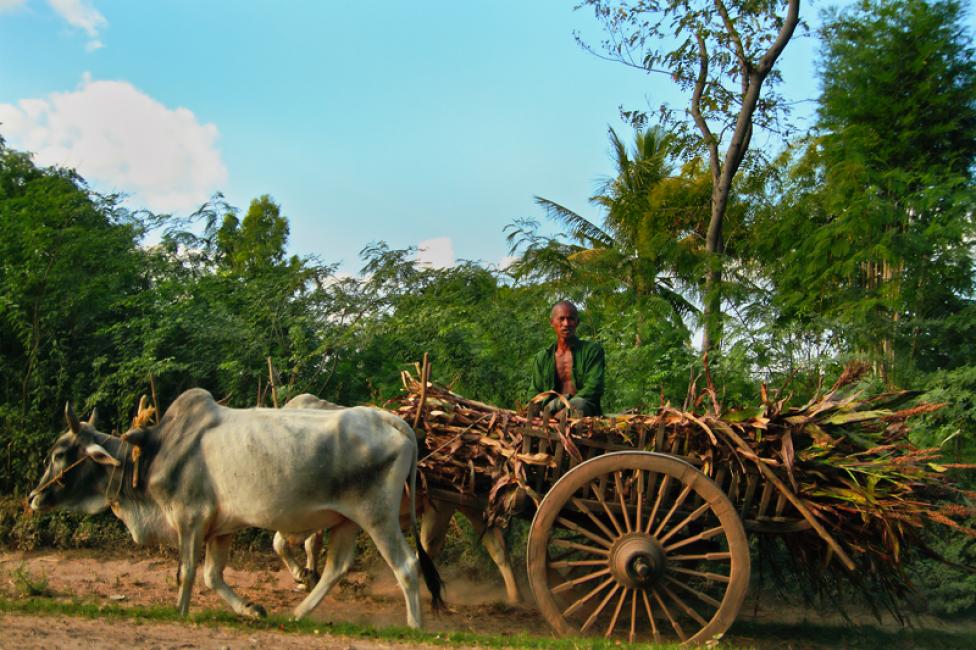
[[[58,405],[87,397],[113,355],[103,326],[141,289],[141,232],[116,197],[0,142],[0,490],[34,476],[32,436],[63,425]]]

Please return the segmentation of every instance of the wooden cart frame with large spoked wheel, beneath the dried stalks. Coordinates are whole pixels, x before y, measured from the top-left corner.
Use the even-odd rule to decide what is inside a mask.
[[[746,596],[747,534],[811,527],[782,481],[705,468],[663,426],[632,445],[567,438],[560,428],[565,421],[540,421],[519,432],[525,457],[552,462],[526,464],[526,483],[541,498],[536,506],[517,490],[513,511],[531,519],[529,585],[559,634],[690,644],[720,637]],[[489,509],[487,494],[431,486],[429,496]]]

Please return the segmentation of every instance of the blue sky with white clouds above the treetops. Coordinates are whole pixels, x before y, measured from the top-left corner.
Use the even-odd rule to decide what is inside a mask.
[[[292,250],[346,271],[377,240],[497,263],[533,195],[597,216],[618,106],[684,101],[582,51],[574,4],[0,0],[0,135],[134,207],[270,194]],[[791,99],[816,96],[815,48],[787,48]]]

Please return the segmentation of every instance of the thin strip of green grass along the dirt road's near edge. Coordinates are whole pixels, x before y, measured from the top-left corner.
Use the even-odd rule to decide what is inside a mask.
[[[47,598],[9,599],[0,597],[0,612],[41,616],[77,616],[107,620],[132,620],[180,623],[180,617],[172,607],[120,607],[101,605],[80,600],[62,601]],[[241,630],[275,630],[286,634],[335,635],[358,639],[376,639],[385,642],[401,642],[406,645],[426,643],[430,645],[471,645],[486,648],[552,648],[554,650],[608,650],[620,648],[620,644],[602,639],[554,639],[547,636],[510,636],[474,634],[471,632],[431,632],[406,627],[375,628],[356,623],[322,623],[317,621],[292,621],[281,616],[251,621],[244,620],[228,611],[204,610],[190,614],[186,622],[198,625],[232,627]],[[633,648],[675,648],[673,645],[653,646],[639,644]]]

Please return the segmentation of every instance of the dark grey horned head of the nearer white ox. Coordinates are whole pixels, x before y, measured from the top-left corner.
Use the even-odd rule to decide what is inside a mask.
[[[121,465],[117,440],[95,429],[95,411],[88,422],[75,415],[69,402],[64,417],[68,431],[58,438],[48,457],[44,476],[28,496],[32,510],[67,508],[88,514],[105,510],[109,481],[106,468]],[[109,450],[112,451],[109,451]]]

